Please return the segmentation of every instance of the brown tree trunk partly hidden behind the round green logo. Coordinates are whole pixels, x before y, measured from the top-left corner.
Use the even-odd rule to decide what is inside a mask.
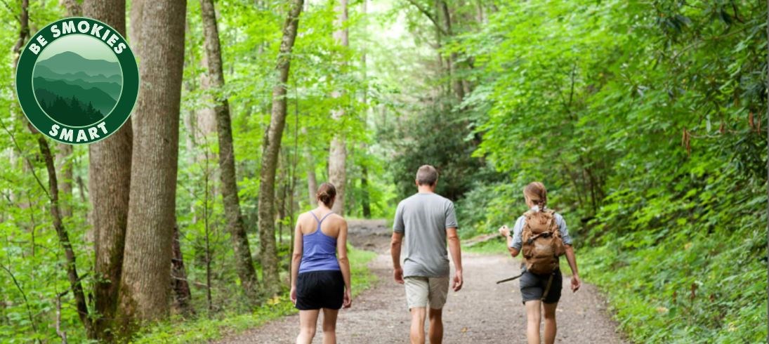
[[[83,15],[95,18],[125,35],[125,0],[85,0]],[[133,44],[136,45],[136,44]],[[88,145],[88,189],[95,232],[94,286],[97,336],[112,339],[109,328],[115,317],[123,266],[128,192],[131,186],[131,124],[107,139]],[[65,176],[66,178],[66,176]]]

